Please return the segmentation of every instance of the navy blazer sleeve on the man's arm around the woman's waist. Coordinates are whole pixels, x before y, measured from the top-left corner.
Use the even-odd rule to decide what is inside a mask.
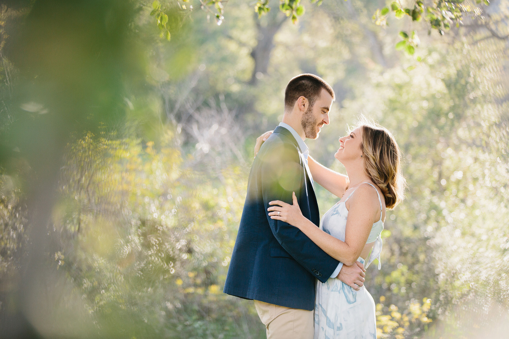
[[[302,171],[305,171],[298,149],[290,143],[280,143],[264,152],[261,159],[262,196],[270,228],[281,246],[306,270],[324,283],[336,269],[339,262],[330,257],[302,231],[291,224],[271,219],[267,208],[274,200],[292,204],[295,191],[299,206],[307,199]]]

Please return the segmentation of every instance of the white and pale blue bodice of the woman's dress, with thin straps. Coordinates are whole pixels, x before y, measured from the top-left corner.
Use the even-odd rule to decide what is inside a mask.
[[[373,186],[370,183],[366,183],[368,185]],[[375,186],[373,186],[375,188]],[[382,238],[381,233],[383,230],[383,221],[382,221],[382,201],[380,200],[380,194],[378,190],[375,188],[378,195],[378,201],[380,203],[380,220],[375,222],[371,228],[371,232],[369,237],[367,237],[366,244],[375,242],[373,244],[373,248],[371,249],[371,253],[369,258],[367,259],[367,264],[365,268],[370,266],[373,260],[378,259],[378,269],[381,268],[380,264],[380,253],[382,252]],[[340,202],[332,206],[322,217],[320,221],[320,229],[324,232],[330,234],[336,239],[340,239],[341,241],[345,241],[346,234],[346,226],[347,226],[347,218],[348,218],[348,210],[346,208],[346,202],[355,190],[350,193],[347,199],[344,202]]]

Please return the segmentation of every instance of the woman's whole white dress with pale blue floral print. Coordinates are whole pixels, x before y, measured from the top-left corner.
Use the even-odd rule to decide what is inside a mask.
[[[367,184],[373,186],[370,183]],[[353,192],[344,202],[332,206],[320,222],[320,229],[342,241],[345,241],[348,217],[345,203],[352,194]],[[380,269],[380,252],[382,251],[380,234],[383,230],[380,194],[378,194],[378,201],[380,202],[380,220],[373,224],[366,241],[366,244],[373,241],[375,244],[365,268],[377,258]],[[364,264],[364,259],[359,258],[358,261]],[[329,278],[325,283],[317,281],[315,339],[376,339],[376,337],[375,301],[364,286],[359,291],[355,291],[339,279]]]

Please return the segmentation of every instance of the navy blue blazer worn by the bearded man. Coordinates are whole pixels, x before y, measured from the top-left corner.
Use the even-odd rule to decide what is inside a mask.
[[[318,204],[304,158],[292,133],[278,126],[251,167],[224,293],[279,306],[312,310],[315,278],[325,282],[339,262],[298,228],[269,217],[269,202],[292,204],[295,191],[302,214],[320,222]]]

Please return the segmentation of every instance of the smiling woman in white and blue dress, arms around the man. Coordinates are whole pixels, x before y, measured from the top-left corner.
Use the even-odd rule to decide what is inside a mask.
[[[255,153],[269,135],[267,132],[257,139]],[[378,259],[380,269],[380,234],[385,210],[393,209],[403,199],[405,188],[399,147],[387,129],[365,120],[339,142],[334,157],[345,166],[347,176],[308,157],[314,180],[342,196],[323,215],[320,228],[302,215],[295,193],[293,205],[271,202],[269,215],[299,228],[328,255],[345,265],[353,265],[358,260],[366,262],[367,268]],[[375,302],[365,287],[355,291],[339,279],[330,278],[324,284],[317,281],[316,293],[315,339],[376,339]]]

